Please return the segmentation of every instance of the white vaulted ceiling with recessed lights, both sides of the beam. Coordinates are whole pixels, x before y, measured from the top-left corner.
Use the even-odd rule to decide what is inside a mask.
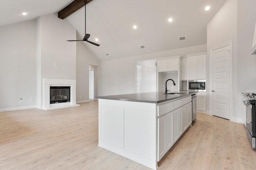
[[[0,25],[59,12],[73,0],[0,0]],[[207,23],[226,0],[93,0],[86,4],[88,40],[84,45],[100,60],[155,53],[206,43]],[[210,10],[204,8],[210,6]],[[85,7],[64,20],[84,37]],[[23,17],[21,13],[28,15]],[[168,21],[172,18],[172,22]],[[137,26],[137,29],[133,28]],[[185,41],[178,37],[186,36]],[[75,42],[70,42],[75,43]],[[80,41],[79,43],[82,43]],[[145,48],[141,49],[140,45]],[[106,56],[106,53],[109,56]]]

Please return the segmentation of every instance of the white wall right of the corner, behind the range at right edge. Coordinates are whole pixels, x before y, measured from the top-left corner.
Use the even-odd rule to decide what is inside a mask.
[[[238,0],[236,117],[241,117],[241,92],[256,92],[256,55],[250,55],[255,23],[256,0]]]

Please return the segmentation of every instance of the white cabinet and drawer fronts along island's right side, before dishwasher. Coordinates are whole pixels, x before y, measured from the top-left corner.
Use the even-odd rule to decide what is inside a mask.
[[[192,123],[191,96],[162,104],[157,108],[157,160],[180,138]],[[169,111],[169,112],[168,112]]]

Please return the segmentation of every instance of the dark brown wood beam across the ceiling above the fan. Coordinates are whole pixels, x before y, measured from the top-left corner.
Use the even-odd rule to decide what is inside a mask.
[[[85,2],[86,4],[88,4],[89,2],[92,2],[92,0],[86,0]],[[83,6],[84,6],[84,0],[74,0],[68,6],[66,6],[65,8],[60,10],[60,12],[58,12],[58,18],[63,20],[64,18],[70,16],[71,14],[73,14]]]

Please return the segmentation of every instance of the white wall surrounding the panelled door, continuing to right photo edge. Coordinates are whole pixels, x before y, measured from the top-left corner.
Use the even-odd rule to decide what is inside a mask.
[[[256,20],[256,1],[227,0],[219,12],[207,25],[207,52],[211,48],[232,41],[232,102],[231,119],[242,118],[241,92],[256,91],[256,57],[251,56],[252,38]],[[207,68],[210,61],[207,60]],[[252,72],[254,74],[245,74]],[[210,77],[208,70],[207,77]],[[209,83],[208,87],[209,89]],[[210,110],[210,92],[208,90],[206,109]]]

